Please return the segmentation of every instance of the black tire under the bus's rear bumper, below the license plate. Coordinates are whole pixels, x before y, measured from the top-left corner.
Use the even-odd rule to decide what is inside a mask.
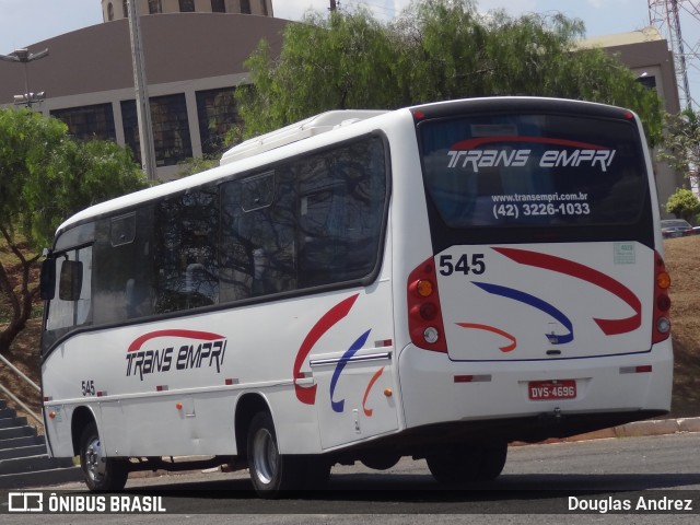
[[[435,481],[445,486],[469,485],[477,480],[481,465],[481,447],[445,445],[425,456]]]

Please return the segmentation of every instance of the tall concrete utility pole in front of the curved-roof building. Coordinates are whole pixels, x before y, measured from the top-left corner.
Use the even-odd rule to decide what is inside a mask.
[[[155,180],[155,148],[153,145],[153,127],[151,125],[151,106],[149,104],[149,86],[145,80],[145,65],[143,62],[141,24],[139,23],[136,3],[136,0],[128,0],[136,115],[139,121],[139,141],[141,143],[141,167],[149,180]]]

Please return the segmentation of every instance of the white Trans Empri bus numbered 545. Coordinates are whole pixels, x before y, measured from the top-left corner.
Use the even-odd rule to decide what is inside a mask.
[[[510,442],[669,410],[662,249],[627,109],[319,115],[60,225],[50,454],[80,456],[92,490],[228,464],[277,497],[402,456],[441,483],[493,479]]]

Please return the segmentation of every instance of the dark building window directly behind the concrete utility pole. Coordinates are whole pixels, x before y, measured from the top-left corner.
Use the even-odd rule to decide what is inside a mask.
[[[192,156],[192,144],[187,119],[185,94],[155,96],[150,100],[153,145],[158,166],[173,166]],[[121,102],[124,137],[141,162],[141,145],[137,119],[136,101]]]

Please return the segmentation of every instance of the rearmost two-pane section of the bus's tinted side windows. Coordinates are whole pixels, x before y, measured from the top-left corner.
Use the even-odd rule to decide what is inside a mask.
[[[221,301],[370,276],[386,194],[384,145],[376,137],[224,184]]]

